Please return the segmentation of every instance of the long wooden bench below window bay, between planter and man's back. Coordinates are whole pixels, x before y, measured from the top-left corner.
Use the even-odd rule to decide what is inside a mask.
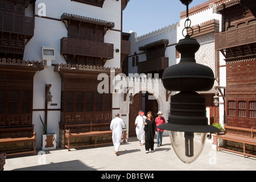
[[[90,146],[97,147],[100,145],[112,143],[112,141],[111,142],[107,141],[106,143],[97,143],[98,136],[112,135],[112,131],[110,130],[110,122],[94,122],[94,123],[90,122],[90,123],[83,123],[83,124],[68,124],[65,127],[69,127],[69,129],[65,130],[65,138],[68,139],[68,144],[65,144],[65,147],[68,148],[68,151],[70,151],[70,148],[90,147]],[[77,127],[80,127],[80,131],[76,131],[78,130]],[[105,127],[105,129],[108,129],[108,130],[99,131],[101,127]],[[77,143],[75,144],[71,143],[71,139],[84,138],[84,137],[95,137],[94,143],[93,144],[80,143],[79,145],[77,145]]]

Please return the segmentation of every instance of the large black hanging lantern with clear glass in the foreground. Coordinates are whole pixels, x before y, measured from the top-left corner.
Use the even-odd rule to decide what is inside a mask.
[[[192,1],[180,1],[187,6],[184,30],[188,30],[191,28],[188,5]],[[208,125],[205,97],[196,93],[212,89],[215,79],[212,69],[196,63],[195,53],[200,44],[191,36],[185,35],[176,45],[181,54],[180,63],[166,68],[163,72],[164,88],[180,92],[171,97],[168,123],[158,126],[159,129],[169,131],[172,147],[184,163],[191,163],[200,155],[207,133],[220,131],[217,127]]]

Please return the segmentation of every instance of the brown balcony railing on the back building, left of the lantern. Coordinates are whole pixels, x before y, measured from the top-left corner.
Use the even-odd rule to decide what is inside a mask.
[[[156,70],[166,69],[169,65],[168,57],[156,57],[147,61],[142,61],[138,63],[138,72],[152,72]]]

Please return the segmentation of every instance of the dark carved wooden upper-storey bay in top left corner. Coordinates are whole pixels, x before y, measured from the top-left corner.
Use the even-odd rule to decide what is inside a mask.
[[[34,18],[25,16],[26,1],[0,3],[0,57],[23,59],[26,43],[34,36]]]

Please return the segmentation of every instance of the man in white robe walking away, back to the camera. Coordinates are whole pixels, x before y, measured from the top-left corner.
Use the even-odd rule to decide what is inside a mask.
[[[112,140],[115,147],[115,155],[118,154],[118,150],[120,147],[120,142],[122,138],[122,129],[125,128],[125,123],[123,119],[120,118],[120,115],[117,113],[115,114],[115,118],[112,119],[110,123],[110,130],[112,130]]]

